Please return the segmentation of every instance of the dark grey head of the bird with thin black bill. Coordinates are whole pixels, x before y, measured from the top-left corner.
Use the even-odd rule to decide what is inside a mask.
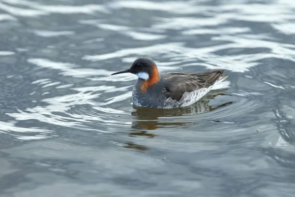
[[[139,78],[146,81],[149,78],[152,78],[153,75],[159,75],[156,63],[149,58],[138,58],[133,62],[129,69],[115,72],[112,75],[126,72],[136,74]]]

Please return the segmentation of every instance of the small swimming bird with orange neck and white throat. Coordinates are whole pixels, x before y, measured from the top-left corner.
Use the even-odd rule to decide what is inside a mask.
[[[177,108],[188,106],[228,77],[224,69],[202,73],[159,73],[156,63],[149,58],[136,59],[129,69],[115,72],[132,73],[138,79],[132,90],[133,105],[148,108]]]

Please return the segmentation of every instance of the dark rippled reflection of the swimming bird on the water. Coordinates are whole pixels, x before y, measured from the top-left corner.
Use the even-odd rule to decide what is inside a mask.
[[[133,120],[131,126],[132,132],[129,133],[129,136],[146,136],[152,138],[157,135],[156,133],[150,132],[150,130],[196,125],[198,123],[194,115],[213,111],[233,103],[226,102],[217,106],[211,106],[208,104],[210,100],[215,99],[218,95],[225,96],[226,94],[224,94],[224,92],[226,90],[227,89],[211,90],[206,96],[196,103],[182,108],[155,109],[133,106],[135,111],[131,112]],[[125,143],[125,148],[136,149],[139,151],[146,151],[149,149],[148,146],[139,145],[131,141],[127,141]]]

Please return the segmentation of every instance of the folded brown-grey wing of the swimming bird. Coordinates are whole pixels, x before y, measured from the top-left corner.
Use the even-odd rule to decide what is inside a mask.
[[[166,99],[181,99],[186,92],[193,92],[201,88],[212,86],[222,76],[224,70],[212,70],[203,73],[185,74],[178,72],[165,73],[165,89],[163,94]]]

